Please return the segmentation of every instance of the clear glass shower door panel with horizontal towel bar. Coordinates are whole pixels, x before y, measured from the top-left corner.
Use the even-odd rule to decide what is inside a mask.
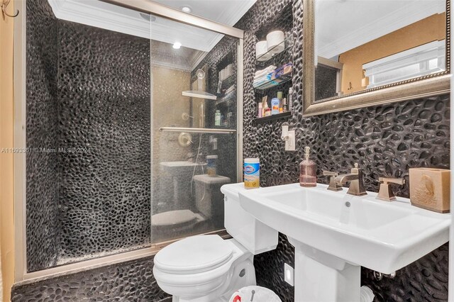
[[[151,41],[152,243],[222,230],[237,182],[238,40],[172,25],[192,36]]]

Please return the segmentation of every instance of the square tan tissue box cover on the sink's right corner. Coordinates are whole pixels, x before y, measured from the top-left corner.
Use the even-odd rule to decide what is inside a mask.
[[[438,213],[450,211],[450,170],[410,169],[411,205]]]

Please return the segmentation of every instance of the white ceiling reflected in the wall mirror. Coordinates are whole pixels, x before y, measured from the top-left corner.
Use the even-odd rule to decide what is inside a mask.
[[[316,55],[336,57],[444,11],[445,0],[316,0]]]

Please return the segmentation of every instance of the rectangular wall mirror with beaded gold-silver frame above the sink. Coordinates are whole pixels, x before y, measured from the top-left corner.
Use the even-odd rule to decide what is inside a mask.
[[[450,91],[450,0],[303,0],[303,116]]]

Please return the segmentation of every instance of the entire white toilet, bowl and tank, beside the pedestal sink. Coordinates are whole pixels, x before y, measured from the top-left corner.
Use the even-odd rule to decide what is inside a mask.
[[[244,190],[242,183],[221,187],[224,225],[232,239],[196,235],[155,255],[157,285],[173,302],[228,302],[238,289],[255,285],[254,255],[275,250],[278,234],[241,208],[238,193]]]

